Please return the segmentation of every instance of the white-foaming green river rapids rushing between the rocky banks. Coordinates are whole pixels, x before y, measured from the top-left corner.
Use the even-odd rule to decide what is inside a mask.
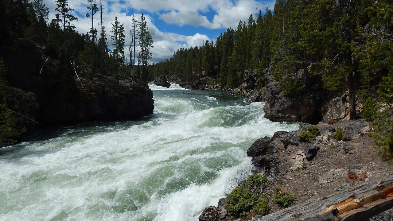
[[[218,91],[149,85],[154,114],[45,131],[0,149],[0,220],[197,221],[246,150],[298,124],[263,118],[263,103]]]

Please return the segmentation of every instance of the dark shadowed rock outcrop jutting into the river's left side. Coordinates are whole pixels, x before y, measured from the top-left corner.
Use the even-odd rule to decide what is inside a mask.
[[[31,99],[27,103],[31,108],[22,114],[34,112],[28,115],[40,126],[130,120],[152,114],[154,100],[147,85],[118,84],[100,74],[87,77],[64,72],[63,67],[53,68],[57,61],[46,61],[42,49],[29,39],[17,39],[14,44],[15,50],[5,60],[7,80],[11,87],[35,97],[36,103]]]

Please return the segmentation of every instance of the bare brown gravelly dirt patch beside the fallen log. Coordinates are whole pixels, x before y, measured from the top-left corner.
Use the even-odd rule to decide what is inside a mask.
[[[341,122],[336,126],[345,127],[347,123]],[[353,149],[349,153],[345,153],[343,147],[334,147],[332,144],[335,142],[331,138],[325,140],[326,144],[316,144],[321,149],[314,159],[304,159],[300,170],[288,172],[281,180],[270,183],[269,188],[283,188],[286,192],[294,193],[295,204],[298,204],[335,193],[340,185],[343,189],[393,170],[392,163],[378,155],[378,147],[367,133],[343,142],[352,145]],[[296,153],[303,145],[294,148],[292,152]],[[270,205],[271,213],[280,210],[274,203]]]

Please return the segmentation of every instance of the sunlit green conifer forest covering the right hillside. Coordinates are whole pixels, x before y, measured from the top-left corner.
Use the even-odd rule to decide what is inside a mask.
[[[346,93],[351,119],[356,101],[368,98],[363,116],[379,119],[375,129],[393,149],[392,5],[391,0],[277,0],[274,12],[250,15],[216,42],[180,49],[151,68],[158,76],[203,79],[221,88],[239,87],[248,69],[258,70],[262,88],[263,70],[271,68],[286,95],[299,96],[309,87],[326,90],[327,98]]]

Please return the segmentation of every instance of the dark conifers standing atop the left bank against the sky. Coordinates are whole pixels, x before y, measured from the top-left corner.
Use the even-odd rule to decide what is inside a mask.
[[[44,45],[44,56],[54,59],[55,66],[64,74],[102,73],[119,77],[129,77],[133,82],[145,83],[148,61],[152,59],[153,39],[143,14],[138,21],[132,17],[132,27],[125,30],[117,17],[114,18],[107,39],[103,22],[105,2],[87,0],[86,17],[91,18],[92,26],[87,33],[75,31],[74,22],[78,20],[68,0],[56,1],[56,17],[48,18],[49,9],[43,0],[0,0],[0,33],[2,48],[8,50],[13,39],[28,38]],[[99,17],[98,29],[94,19]],[[128,28],[128,27],[127,27]],[[126,35],[129,35],[129,60],[125,55]],[[110,42],[110,45],[108,45]],[[136,49],[139,51],[136,52]]]

